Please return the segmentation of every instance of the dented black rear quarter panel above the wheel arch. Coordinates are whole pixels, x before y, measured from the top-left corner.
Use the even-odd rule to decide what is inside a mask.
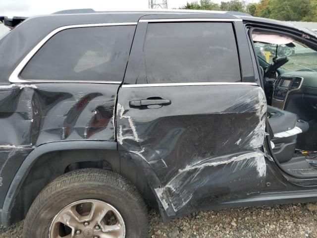
[[[25,157],[62,140],[114,140],[118,84],[42,83],[0,86],[0,193]],[[0,205],[2,204],[0,196]]]

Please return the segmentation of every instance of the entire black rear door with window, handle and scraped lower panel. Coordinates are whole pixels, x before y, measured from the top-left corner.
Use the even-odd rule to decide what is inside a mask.
[[[266,101],[240,63],[237,26],[215,18],[138,23],[118,92],[117,140],[168,216],[264,187]]]

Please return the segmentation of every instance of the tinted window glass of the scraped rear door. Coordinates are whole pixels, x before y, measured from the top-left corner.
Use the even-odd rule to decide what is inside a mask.
[[[231,23],[150,23],[143,51],[148,83],[241,81]]]

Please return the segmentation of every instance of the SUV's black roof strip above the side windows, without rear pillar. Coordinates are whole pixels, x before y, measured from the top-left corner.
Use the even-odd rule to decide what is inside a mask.
[[[240,18],[245,21],[256,21],[268,24],[283,25],[286,27],[294,27],[290,23],[283,21],[277,21],[267,18],[260,18],[251,16],[248,13],[238,11],[212,11],[212,10],[190,10],[190,9],[146,9],[146,10],[133,10],[133,11],[95,11],[94,9],[68,9],[54,12],[49,15],[39,15],[30,18],[27,17],[13,17],[11,19],[0,16],[0,21],[5,21],[10,27],[17,25],[18,23],[29,20],[34,21],[45,21],[55,22],[62,25],[72,24],[91,24],[91,23],[111,23],[111,22],[137,22],[141,17],[152,17],[162,18],[164,15],[168,18],[195,18],[199,15],[199,18],[219,18],[219,19],[230,19]],[[172,16],[173,15],[173,16]],[[44,22],[43,22],[44,23]],[[304,28],[296,28],[303,30]]]

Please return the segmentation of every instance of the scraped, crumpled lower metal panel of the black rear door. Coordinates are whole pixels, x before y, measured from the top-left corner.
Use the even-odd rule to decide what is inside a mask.
[[[168,91],[167,88],[164,90]],[[196,89],[188,88],[189,92]],[[222,91],[223,87],[207,87],[206,91],[198,89],[201,98],[208,93],[214,94],[217,100],[217,91]],[[136,91],[133,96],[139,98]],[[159,109],[144,110],[146,114],[143,114],[143,110],[117,105],[119,150],[129,153],[135,160],[145,161],[143,167],[147,168],[144,171],[154,171],[155,176],[151,176],[150,182],[165,210],[172,207],[177,213],[192,206],[189,203],[208,203],[203,201],[205,198],[209,202],[212,199],[221,202],[262,190],[266,172],[261,151],[266,118],[264,92],[261,87],[239,87],[226,100],[219,100],[199,105],[198,110],[205,108],[205,114],[196,114],[196,109],[186,102],[184,108],[176,109],[182,112],[189,108],[192,115],[187,112],[176,115],[172,109],[168,111],[170,115],[164,115],[167,107],[160,112]],[[179,106],[176,98],[171,101],[174,107]],[[241,182],[237,182],[241,178],[245,179],[243,189]],[[200,201],[197,200],[199,197]]]

